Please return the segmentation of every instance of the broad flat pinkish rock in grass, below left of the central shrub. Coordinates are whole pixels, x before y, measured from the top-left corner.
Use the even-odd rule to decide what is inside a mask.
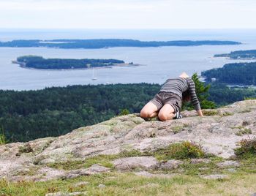
[[[159,167],[159,162],[154,157],[127,157],[114,160],[113,165],[118,170],[132,170],[135,168],[151,170]]]

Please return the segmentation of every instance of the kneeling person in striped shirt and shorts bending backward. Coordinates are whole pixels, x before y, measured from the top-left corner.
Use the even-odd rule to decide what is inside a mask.
[[[203,116],[200,102],[195,94],[195,83],[183,72],[178,78],[170,78],[165,81],[154,99],[151,99],[140,111],[140,117],[158,116],[161,121],[181,118],[181,103],[189,100],[194,105],[198,116]]]

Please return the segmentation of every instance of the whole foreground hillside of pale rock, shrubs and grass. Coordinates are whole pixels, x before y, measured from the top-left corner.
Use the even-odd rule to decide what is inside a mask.
[[[256,149],[242,157],[235,148],[253,142],[256,100],[203,113],[165,122],[130,114],[0,146],[0,194],[252,195]]]

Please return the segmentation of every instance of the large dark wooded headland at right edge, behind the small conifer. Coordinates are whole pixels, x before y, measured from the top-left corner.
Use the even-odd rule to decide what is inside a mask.
[[[225,64],[222,68],[201,73],[206,81],[238,85],[256,85],[256,62]]]

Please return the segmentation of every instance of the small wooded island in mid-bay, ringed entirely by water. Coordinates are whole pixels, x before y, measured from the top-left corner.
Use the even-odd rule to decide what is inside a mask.
[[[44,59],[42,56],[20,56],[14,64],[34,69],[88,69],[93,67],[136,66],[117,59]]]

